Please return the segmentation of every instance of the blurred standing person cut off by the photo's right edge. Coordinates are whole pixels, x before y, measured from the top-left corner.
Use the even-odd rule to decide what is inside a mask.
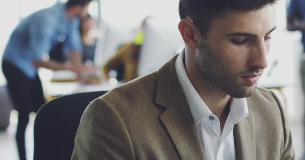
[[[302,33],[301,43],[303,45],[303,51],[300,58],[300,77],[303,94],[305,94],[305,0],[290,0],[287,10],[287,29],[290,31],[298,30]],[[305,124],[305,112],[303,124]],[[303,157],[305,158],[305,149]]]

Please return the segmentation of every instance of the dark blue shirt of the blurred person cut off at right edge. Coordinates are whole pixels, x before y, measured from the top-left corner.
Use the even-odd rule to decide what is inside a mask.
[[[294,16],[297,19],[305,20],[305,0],[290,0],[287,11],[288,16]],[[305,47],[305,32],[302,31],[302,44]]]

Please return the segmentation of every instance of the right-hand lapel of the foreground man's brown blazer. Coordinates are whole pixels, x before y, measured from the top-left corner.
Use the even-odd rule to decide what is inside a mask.
[[[255,132],[253,129],[254,120],[253,114],[250,111],[251,102],[248,101],[249,116],[246,119],[241,120],[234,126],[234,141],[236,159],[251,160],[256,159],[256,144],[255,144]]]

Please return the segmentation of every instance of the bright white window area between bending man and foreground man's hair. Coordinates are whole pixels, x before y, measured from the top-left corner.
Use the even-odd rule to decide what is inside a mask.
[[[147,15],[179,19],[179,0],[101,0],[102,19],[134,23]]]

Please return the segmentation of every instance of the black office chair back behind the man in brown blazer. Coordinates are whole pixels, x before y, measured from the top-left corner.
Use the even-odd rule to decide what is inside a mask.
[[[64,95],[44,104],[34,123],[34,160],[71,159],[74,137],[86,106],[106,92]]]

